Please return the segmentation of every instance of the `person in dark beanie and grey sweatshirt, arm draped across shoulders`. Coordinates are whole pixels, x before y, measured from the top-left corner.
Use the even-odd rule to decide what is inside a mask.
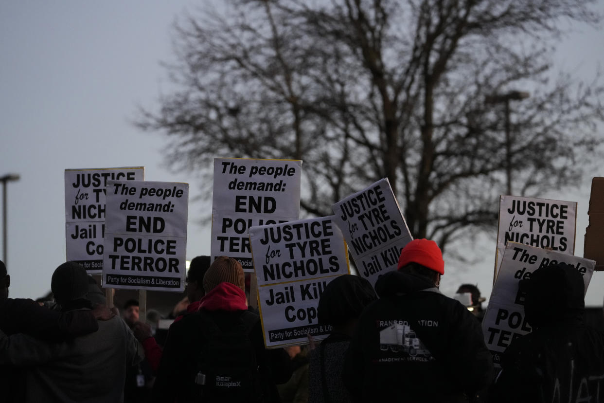
[[[51,289],[63,312],[91,309],[88,275],[77,263],[60,265]],[[121,402],[126,365],[141,360],[138,347],[126,324],[112,317],[99,321],[97,332],[56,343],[0,332],[0,364],[26,368],[24,402]]]

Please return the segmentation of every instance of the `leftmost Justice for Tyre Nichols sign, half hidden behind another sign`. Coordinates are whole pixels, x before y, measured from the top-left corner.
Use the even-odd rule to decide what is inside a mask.
[[[67,260],[80,263],[89,274],[101,274],[107,181],[143,179],[144,167],[65,170]]]

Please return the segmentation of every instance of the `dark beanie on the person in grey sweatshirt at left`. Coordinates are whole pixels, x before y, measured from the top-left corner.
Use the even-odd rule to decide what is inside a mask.
[[[59,304],[85,298],[88,294],[88,274],[79,263],[65,262],[54,271],[50,288]]]

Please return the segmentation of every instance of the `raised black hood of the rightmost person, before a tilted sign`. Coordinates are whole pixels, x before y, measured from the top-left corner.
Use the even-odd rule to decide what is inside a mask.
[[[531,326],[568,326],[582,322],[585,284],[573,266],[559,263],[536,269],[530,279],[521,280],[518,286],[524,294],[524,312]]]

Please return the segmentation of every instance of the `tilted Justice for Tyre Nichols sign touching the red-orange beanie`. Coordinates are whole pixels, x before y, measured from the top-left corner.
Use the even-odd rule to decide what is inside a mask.
[[[400,251],[413,237],[387,178],[332,208],[362,277],[375,285],[381,274],[396,270]]]

